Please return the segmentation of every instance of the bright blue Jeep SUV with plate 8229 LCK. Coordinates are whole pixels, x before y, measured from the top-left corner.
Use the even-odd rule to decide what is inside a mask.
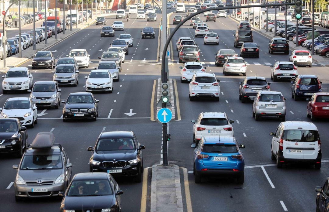
[[[201,183],[202,177],[231,177],[237,178],[239,184],[243,184],[244,159],[234,137],[207,136],[202,137],[194,149],[193,174],[195,183]]]

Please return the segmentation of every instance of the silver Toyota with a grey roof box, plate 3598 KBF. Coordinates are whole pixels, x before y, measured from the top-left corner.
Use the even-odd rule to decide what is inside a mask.
[[[38,133],[24,153],[14,180],[15,200],[58,196],[70,182],[72,163],[51,132]]]

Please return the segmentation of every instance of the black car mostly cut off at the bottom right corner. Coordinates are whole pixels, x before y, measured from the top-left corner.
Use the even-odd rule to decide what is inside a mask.
[[[329,209],[329,177],[324,182],[323,187],[316,186],[316,211],[325,212]]]

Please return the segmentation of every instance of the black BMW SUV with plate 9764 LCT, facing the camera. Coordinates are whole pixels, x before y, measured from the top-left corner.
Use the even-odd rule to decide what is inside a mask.
[[[135,134],[128,131],[102,132],[95,147],[88,147],[93,154],[89,160],[90,172],[107,172],[115,176],[135,177],[142,180],[143,154]]]

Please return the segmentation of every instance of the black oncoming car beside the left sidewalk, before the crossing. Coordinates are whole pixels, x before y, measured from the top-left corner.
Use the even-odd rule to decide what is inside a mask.
[[[32,69],[34,69],[35,67],[55,67],[55,57],[53,53],[51,53],[51,51],[38,51],[32,57]]]

